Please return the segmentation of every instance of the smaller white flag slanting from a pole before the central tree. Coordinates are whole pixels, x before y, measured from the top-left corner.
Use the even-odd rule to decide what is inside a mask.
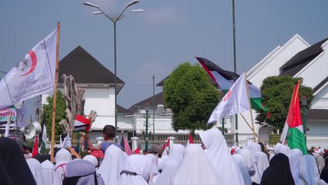
[[[242,74],[215,107],[207,123],[215,123],[220,118],[245,111],[250,111],[250,102],[247,96],[245,74]]]

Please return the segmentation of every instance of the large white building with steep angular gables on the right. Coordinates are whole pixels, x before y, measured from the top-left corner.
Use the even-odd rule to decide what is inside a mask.
[[[328,137],[328,39],[324,39],[313,46],[296,34],[285,45],[278,46],[263,60],[247,71],[247,79],[257,87],[268,76],[289,75],[302,77],[303,85],[313,88],[314,100],[307,114],[306,133],[309,139]],[[255,120],[255,111],[253,111]],[[245,116],[250,123],[250,114]],[[238,116],[239,139],[252,137],[251,130],[247,127],[241,116]],[[271,129],[266,125],[255,124],[257,133],[263,141],[268,141]]]

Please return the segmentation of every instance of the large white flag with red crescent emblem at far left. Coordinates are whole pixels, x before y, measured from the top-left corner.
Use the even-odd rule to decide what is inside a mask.
[[[0,81],[0,109],[53,91],[57,29],[36,44]]]

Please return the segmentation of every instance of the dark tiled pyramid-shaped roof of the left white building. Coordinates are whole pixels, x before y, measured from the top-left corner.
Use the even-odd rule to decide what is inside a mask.
[[[72,75],[76,83],[114,84],[114,74],[98,62],[81,46],[76,47],[59,62],[58,82],[63,83],[62,74]],[[120,78],[117,83],[124,84]]]

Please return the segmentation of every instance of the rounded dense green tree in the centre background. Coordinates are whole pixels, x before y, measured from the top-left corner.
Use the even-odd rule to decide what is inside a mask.
[[[209,76],[198,64],[179,64],[163,86],[164,102],[173,111],[172,128],[206,130],[210,114],[220,100],[219,91],[210,83]]]

